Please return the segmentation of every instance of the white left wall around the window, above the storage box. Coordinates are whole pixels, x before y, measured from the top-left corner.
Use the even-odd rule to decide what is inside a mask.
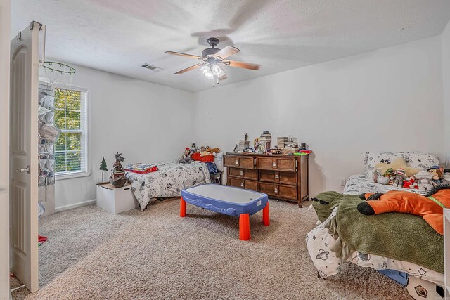
[[[71,64],[72,65],[72,64]],[[73,65],[72,86],[88,89],[89,177],[56,181],[56,208],[96,199],[102,156],[113,167],[115,152],[125,164],[177,159],[193,141],[193,93]],[[149,71],[151,72],[151,71]],[[109,174],[105,174],[108,178]]]

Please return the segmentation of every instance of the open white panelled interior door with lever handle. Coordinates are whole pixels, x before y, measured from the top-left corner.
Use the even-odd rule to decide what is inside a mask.
[[[39,28],[37,22],[11,41],[11,270],[31,292],[38,281]]]

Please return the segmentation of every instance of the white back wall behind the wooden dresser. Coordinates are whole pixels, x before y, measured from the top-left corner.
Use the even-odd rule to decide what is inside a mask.
[[[295,55],[295,53],[293,53]],[[262,66],[264,67],[264,66]],[[250,72],[250,71],[248,71]],[[248,133],[313,150],[310,195],[342,190],[366,151],[444,154],[440,37],[195,93],[197,140],[231,151]]]

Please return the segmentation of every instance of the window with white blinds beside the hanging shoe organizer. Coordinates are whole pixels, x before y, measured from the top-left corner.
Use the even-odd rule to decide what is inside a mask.
[[[87,93],[55,89],[55,126],[61,135],[55,144],[55,174],[87,172]]]

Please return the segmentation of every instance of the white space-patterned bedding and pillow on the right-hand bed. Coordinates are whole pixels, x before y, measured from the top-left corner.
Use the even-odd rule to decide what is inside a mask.
[[[373,182],[371,179],[373,176],[371,176],[371,174],[373,174],[375,164],[387,160],[392,161],[396,157],[403,157],[411,164],[411,167],[425,170],[431,165],[439,164],[435,155],[420,154],[418,152],[366,153],[364,157],[365,174],[350,176],[342,193],[345,195],[360,195],[361,193],[367,192],[386,193],[390,190],[407,190],[412,193],[420,193],[416,189],[395,188],[392,185],[383,185]],[[442,274],[442,271],[438,271],[436,268],[435,270],[426,268],[411,261],[390,259],[386,256],[366,254],[358,251],[347,254],[344,259],[338,257],[339,255],[333,252],[332,247],[339,238],[339,235],[328,229],[330,223],[336,223],[335,218],[338,208],[339,207],[333,207],[328,217],[326,217],[326,220],[322,219],[322,223],[319,223],[319,225],[311,230],[306,237],[309,254],[321,278],[326,278],[339,273],[340,265],[342,263],[352,262],[365,268],[399,270],[400,272],[408,273],[410,276],[435,282],[437,285],[444,285],[444,275]],[[411,244],[414,244],[414,241],[411,241]],[[405,247],[409,246],[410,244],[405,244]],[[333,247],[333,249],[335,249],[335,247]]]

